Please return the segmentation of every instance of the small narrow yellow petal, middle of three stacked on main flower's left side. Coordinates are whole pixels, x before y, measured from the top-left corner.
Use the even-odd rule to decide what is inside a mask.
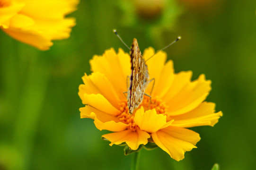
[[[114,106],[106,100],[106,98],[101,94],[84,94],[83,104],[88,104],[97,110],[103,111],[109,115],[116,115],[119,110],[115,109]]]

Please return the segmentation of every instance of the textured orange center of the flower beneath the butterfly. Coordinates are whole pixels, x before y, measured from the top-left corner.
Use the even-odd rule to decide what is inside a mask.
[[[133,111],[133,114],[129,113],[127,100],[120,102],[119,105],[120,105],[120,112],[116,115],[116,117],[120,119],[123,123],[128,124],[129,125],[128,129],[131,129],[133,131],[135,131],[138,127],[134,123],[134,113],[136,112],[137,109],[141,108],[141,106],[144,107],[145,111],[155,109],[157,111],[157,114],[163,114],[163,115],[165,115],[166,108],[167,108],[165,103],[157,99],[156,97],[152,97],[150,102],[150,97],[148,96],[144,96],[144,99],[141,105]]]

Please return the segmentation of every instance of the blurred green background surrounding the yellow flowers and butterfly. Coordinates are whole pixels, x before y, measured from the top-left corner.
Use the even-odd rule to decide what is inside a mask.
[[[256,1],[81,0],[67,40],[38,51],[0,32],[0,170],[129,170],[132,155],[101,140],[92,119],[80,119],[78,87],[88,60],[130,45],[163,48],[176,72],[192,70],[212,80],[207,98],[223,117],[214,127],[194,127],[196,149],[175,161],[161,149],[142,150],[141,170],[253,170],[256,167]],[[146,3],[146,4],[143,4]],[[162,6],[161,6],[162,5]],[[144,9],[144,7],[146,9]],[[148,9],[147,9],[148,8]]]

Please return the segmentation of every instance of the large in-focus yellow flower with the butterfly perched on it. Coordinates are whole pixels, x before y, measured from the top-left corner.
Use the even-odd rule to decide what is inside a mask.
[[[145,60],[154,54],[152,48],[144,51]],[[211,81],[204,75],[191,81],[192,72],[174,73],[173,62],[166,63],[165,52],[157,53],[147,61],[150,78],[155,85],[137,110],[130,115],[127,99],[127,76],[131,72],[130,56],[119,49],[107,50],[103,56],[90,60],[93,73],[83,76],[79,96],[86,106],[80,108],[81,118],[94,119],[99,130],[114,133],[103,135],[113,144],[126,143],[130,149],[154,142],[173,159],[179,161],[184,153],[196,148],[199,134],[186,127],[213,126],[221,111],[214,113],[215,104],[203,102],[211,90]],[[152,83],[145,93],[150,94]]]

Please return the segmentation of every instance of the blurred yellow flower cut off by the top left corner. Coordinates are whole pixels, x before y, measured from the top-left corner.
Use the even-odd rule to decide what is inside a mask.
[[[0,0],[0,28],[11,37],[48,50],[52,40],[70,36],[79,0]]]

